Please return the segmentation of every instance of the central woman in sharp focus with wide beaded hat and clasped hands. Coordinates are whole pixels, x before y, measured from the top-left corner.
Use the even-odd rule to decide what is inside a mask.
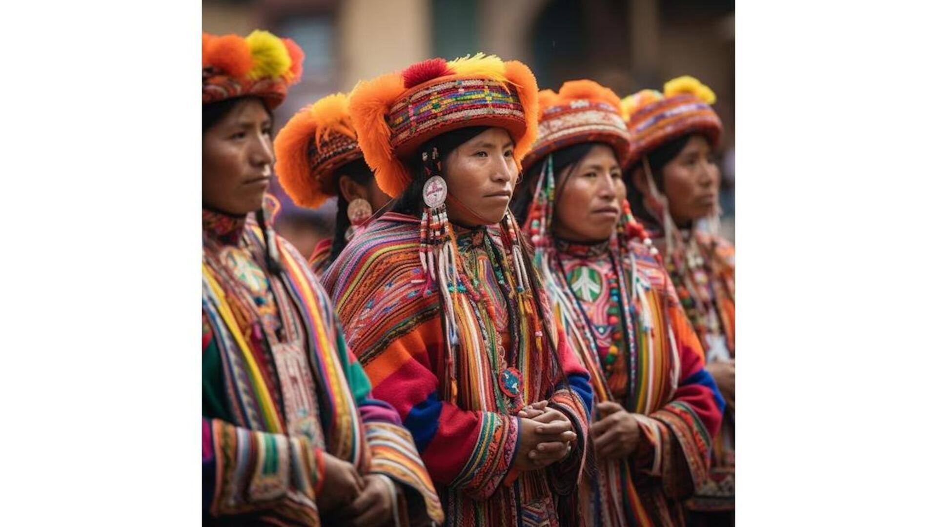
[[[453,525],[574,521],[591,388],[508,210],[536,95],[526,66],[481,54],[350,95],[364,159],[395,201],[323,282]]]

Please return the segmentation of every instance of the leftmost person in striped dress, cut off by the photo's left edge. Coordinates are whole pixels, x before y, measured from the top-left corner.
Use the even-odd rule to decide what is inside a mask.
[[[409,431],[371,398],[328,296],[271,229],[271,110],[302,60],[265,31],[202,35],[203,522],[440,522]]]

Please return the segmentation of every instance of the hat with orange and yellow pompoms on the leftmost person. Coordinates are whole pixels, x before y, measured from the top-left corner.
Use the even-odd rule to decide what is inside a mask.
[[[290,38],[254,30],[246,38],[201,34],[201,103],[245,96],[274,109],[303,75],[303,50]]]

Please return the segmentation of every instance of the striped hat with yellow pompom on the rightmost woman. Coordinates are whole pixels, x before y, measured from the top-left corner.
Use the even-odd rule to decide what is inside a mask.
[[[722,122],[710,106],[716,94],[704,83],[684,75],[663,85],[663,93],[642,90],[621,100],[621,111],[632,132],[629,163],[658,146],[688,133],[701,133],[715,147]]]

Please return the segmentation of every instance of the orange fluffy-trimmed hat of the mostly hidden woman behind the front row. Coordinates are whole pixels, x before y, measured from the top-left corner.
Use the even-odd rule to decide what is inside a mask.
[[[362,158],[343,93],[320,98],[290,117],[274,140],[275,173],[300,206],[315,208],[337,195],[335,172]]]

